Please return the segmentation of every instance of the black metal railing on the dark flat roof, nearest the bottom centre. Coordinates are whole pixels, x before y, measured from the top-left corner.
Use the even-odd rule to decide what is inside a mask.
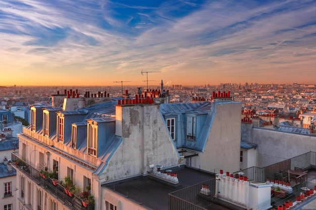
[[[215,196],[215,186],[216,179],[210,179],[208,181],[169,193],[169,210],[205,209],[202,206],[207,205]]]

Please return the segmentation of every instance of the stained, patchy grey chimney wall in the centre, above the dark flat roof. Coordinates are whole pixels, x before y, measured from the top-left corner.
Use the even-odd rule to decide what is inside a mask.
[[[169,137],[159,105],[122,106],[121,110],[123,142],[100,176],[102,181],[146,174],[150,164],[163,167],[178,164],[179,154]]]

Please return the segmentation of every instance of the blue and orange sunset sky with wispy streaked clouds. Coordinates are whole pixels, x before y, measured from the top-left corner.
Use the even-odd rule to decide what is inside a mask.
[[[0,73],[0,86],[316,84],[316,1],[0,0]]]

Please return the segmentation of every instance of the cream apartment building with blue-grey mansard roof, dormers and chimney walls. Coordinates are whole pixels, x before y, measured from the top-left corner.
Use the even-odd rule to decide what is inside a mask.
[[[102,185],[185,165],[187,158],[203,170],[237,171],[241,102],[170,107],[168,94],[112,100],[65,91],[52,95],[51,106],[32,105],[30,125],[19,134],[20,151],[12,155],[19,209],[86,209],[85,192],[94,197],[88,209],[139,207]],[[45,171],[59,183],[42,177]],[[66,194],[66,178],[75,185],[73,197]]]

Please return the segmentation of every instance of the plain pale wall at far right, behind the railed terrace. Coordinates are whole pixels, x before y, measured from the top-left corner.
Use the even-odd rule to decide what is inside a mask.
[[[269,166],[310,151],[316,151],[316,135],[253,127],[252,140],[258,145],[257,167]]]

